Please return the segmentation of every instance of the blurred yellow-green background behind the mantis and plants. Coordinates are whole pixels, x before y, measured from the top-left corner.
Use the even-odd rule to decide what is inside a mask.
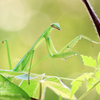
[[[89,1],[100,18],[100,1]],[[78,35],[86,35],[95,41],[99,41],[81,0],[0,0],[0,40],[8,40],[13,68],[44,30],[51,23],[57,22],[66,11],[67,13],[59,20],[61,31],[53,30],[50,34],[57,51]],[[82,39],[73,48],[73,51],[97,59],[100,46],[94,44],[94,47],[92,47],[91,43]],[[43,42],[35,51],[33,63],[46,55],[48,55],[48,52],[45,42]],[[53,62],[60,77],[76,78],[83,73],[94,71],[87,66],[82,69],[77,56],[66,61],[53,59]],[[0,69],[9,69],[4,44],[0,44]],[[50,58],[35,66],[31,72],[56,75]],[[63,81],[71,87],[71,81]],[[76,93],[76,97],[79,98],[85,91],[86,86],[83,84]],[[58,96],[49,89],[47,89],[45,96],[45,100],[58,100]],[[84,100],[90,99],[100,99],[95,89],[84,98]]]

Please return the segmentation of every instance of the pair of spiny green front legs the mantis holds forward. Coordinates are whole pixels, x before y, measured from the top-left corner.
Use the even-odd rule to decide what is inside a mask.
[[[73,55],[77,55],[79,57],[81,63],[83,64],[83,60],[82,60],[82,58],[81,58],[81,56],[80,56],[80,54],[78,52],[75,52],[75,51],[69,52],[81,38],[86,39],[86,40],[90,41],[91,43],[99,44],[99,43],[93,41],[92,39],[90,39],[90,38],[88,38],[86,36],[80,35],[80,36],[77,36],[75,39],[73,39],[71,42],[69,42],[58,53],[56,51],[56,49],[55,49],[50,37],[45,37],[45,41],[46,41],[46,45],[47,45],[47,49],[48,49],[49,55],[52,58],[63,58],[63,59],[71,57]]]

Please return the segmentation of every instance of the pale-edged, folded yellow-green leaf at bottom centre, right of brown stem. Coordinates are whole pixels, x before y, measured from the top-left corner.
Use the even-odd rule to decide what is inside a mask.
[[[44,93],[46,87],[53,90],[57,95],[61,95],[63,98],[70,98],[71,91],[58,77],[49,77],[41,81],[42,82],[42,99],[44,98]],[[76,100],[73,96],[72,99]]]

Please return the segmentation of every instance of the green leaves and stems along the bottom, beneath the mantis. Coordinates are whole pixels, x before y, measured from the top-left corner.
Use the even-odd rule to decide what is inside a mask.
[[[98,54],[97,62],[92,57],[81,56],[84,65],[94,68],[94,72],[84,73],[74,79],[71,82],[71,89],[56,76],[31,73],[29,77],[30,84],[28,84],[28,75],[26,72],[0,70],[0,99],[31,100],[32,97],[35,98],[34,100],[44,100],[46,88],[48,87],[59,95],[59,100],[62,100],[62,98],[76,100],[75,93],[79,90],[82,83],[86,84],[87,91],[78,100],[83,99],[93,88],[96,88],[97,93],[100,94],[100,53]],[[3,75],[20,79],[20,85],[15,85]]]

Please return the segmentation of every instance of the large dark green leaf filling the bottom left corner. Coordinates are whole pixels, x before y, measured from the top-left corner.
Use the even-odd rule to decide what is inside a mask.
[[[31,100],[28,94],[0,74],[0,100]]]

